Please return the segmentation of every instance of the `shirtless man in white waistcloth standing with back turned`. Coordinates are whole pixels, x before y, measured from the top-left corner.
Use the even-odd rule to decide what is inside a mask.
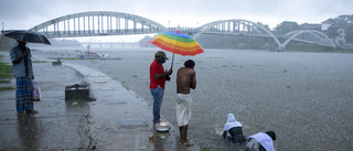
[[[191,117],[190,88],[196,88],[195,63],[189,60],[184,63],[185,67],[178,69],[176,75],[176,121],[180,132],[180,142],[184,145],[193,145],[188,139],[188,125]]]

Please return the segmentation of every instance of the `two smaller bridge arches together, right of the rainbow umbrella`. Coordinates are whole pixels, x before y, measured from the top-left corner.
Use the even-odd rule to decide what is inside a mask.
[[[300,30],[289,32],[285,35],[275,35],[269,29],[261,24],[239,19],[222,20],[204,24],[196,29],[194,37],[197,39],[201,34],[267,36],[274,39],[279,48],[285,48],[290,41],[335,47],[335,44],[319,31]],[[281,43],[279,39],[285,41]]]

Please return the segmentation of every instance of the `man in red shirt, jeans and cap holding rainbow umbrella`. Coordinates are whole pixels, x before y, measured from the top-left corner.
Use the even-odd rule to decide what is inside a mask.
[[[154,60],[150,65],[150,90],[153,96],[153,125],[160,123],[160,112],[164,95],[165,79],[170,80],[169,75],[173,73],[170,68],[164,72],[163,63],[168,60],[167,55],[162,51],[158,51],[154,54]]]

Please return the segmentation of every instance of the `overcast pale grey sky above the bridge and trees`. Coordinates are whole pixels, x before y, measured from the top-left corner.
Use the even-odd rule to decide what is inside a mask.
[[[164,26],[201,26],[245,19],[268,24],[282,21],[321,23],[353,14],[353,0],[0,0],[4,30],[28,30],[58,17],[85,11],[116,11],[153,20]],[[2,30],[2,25],[1,25]]]

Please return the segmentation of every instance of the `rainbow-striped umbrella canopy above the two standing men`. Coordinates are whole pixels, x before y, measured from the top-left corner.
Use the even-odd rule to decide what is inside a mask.
[[[203,53],[203,48],[192,36],[180,31],[160,32],[149,43],[173,54],[183,56]]]

